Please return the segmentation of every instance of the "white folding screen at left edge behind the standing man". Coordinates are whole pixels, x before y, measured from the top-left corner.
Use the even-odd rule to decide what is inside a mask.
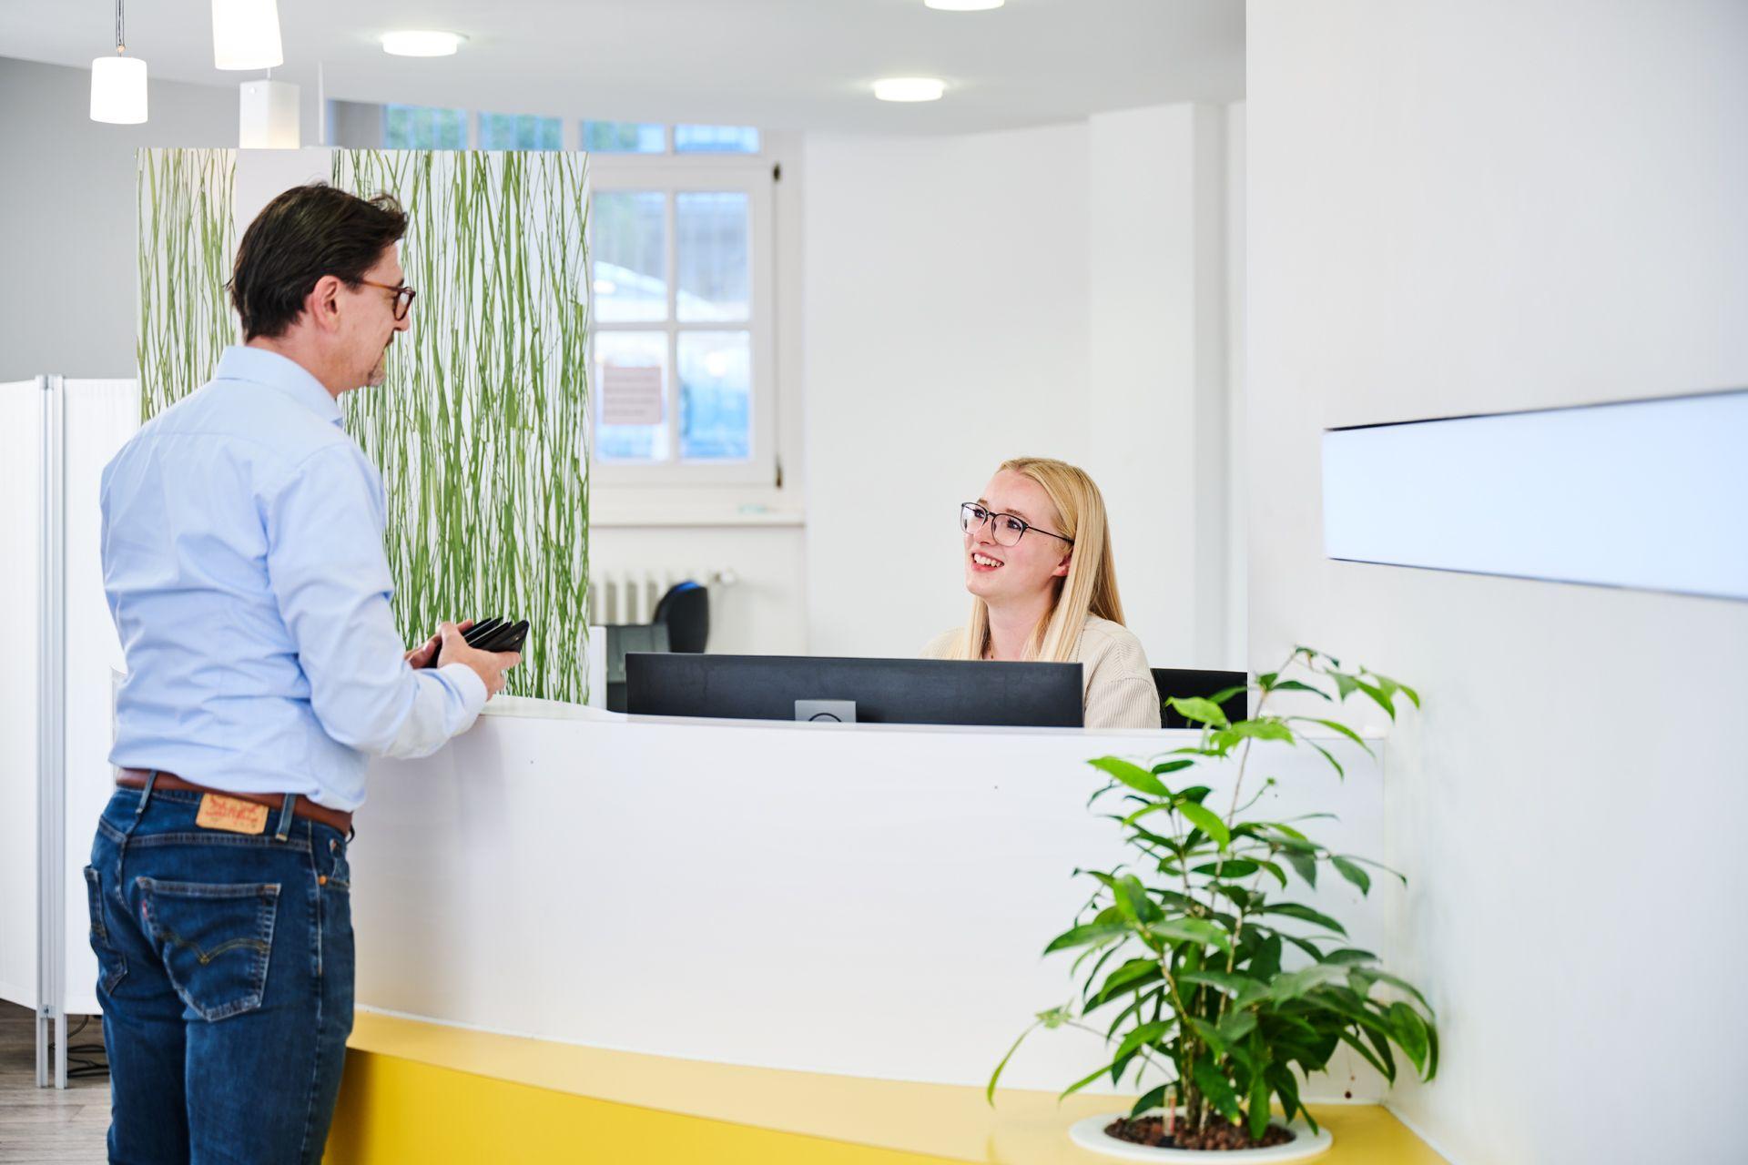
[[[98,489],[138,428],[135,381],[58,376],[0,384],[0,603],[12,667],[0,669],[0,997],[37,1011],[37,1074],[66,1083],[66,1017],[93,1015],[96,959],[86,880],[112,789],[112,672],[121,643],[103,597]]]

